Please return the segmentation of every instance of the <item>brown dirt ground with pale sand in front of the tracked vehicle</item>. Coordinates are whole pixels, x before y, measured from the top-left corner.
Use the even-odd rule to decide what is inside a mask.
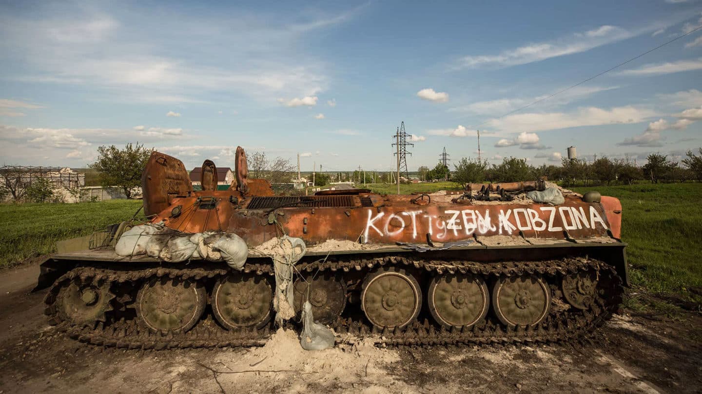
[[[0,275],[0,394],[6,393],[693,393],[702,319],[617,316],[594,344],[300,349],[279,331],[263,348],[119,350],[56,333],[31,294],[36,265]],[[658,318],[658,317],[656,317]],[[272,370],[279,372],[270,372]]]

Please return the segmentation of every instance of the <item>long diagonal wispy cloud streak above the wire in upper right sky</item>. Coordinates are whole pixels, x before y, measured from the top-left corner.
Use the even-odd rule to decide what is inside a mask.
[[[634,37],[636,33],[621,27],[603,25],[587,32],[570,34],[554,41],[543,41],[502,51],[498,55],[469,55],[458,61],[458,68],[497,65],[523,65],[573,53],[581,53],[605,44]]]

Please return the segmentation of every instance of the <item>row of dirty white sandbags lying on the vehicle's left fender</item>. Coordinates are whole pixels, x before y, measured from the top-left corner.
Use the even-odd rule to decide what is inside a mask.
[[[230,232],[197,232],[185,234],[160,225],[135,225],[125,231],[114,246],[117,256],[147,255],[163,261],[204,259],[226,261],[237,270],[244,267],[249,247]]]

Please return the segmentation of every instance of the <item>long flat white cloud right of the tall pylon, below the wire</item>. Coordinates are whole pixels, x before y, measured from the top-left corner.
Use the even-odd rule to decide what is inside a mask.
[[[642,122],[656,112],[644,108],[613,107],[609,110],[597,107],[581,107],[573,112],[544,112],[512,114],[501,119],[491,119],[486,124],[499,131],[524,130],[525,132],[568,129],[579,126],[602,124],[629,124]]]

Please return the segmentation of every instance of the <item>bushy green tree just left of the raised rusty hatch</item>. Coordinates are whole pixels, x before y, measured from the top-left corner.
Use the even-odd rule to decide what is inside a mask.
[[[128,143],[122,150],[114,145],[100,146],[98,160],[90,168],[98,171],[103,188],[119,188],[127,198],[131,198],[134,188],[141,185],[141,173],[151,152],[153,148],[147,149],[139,143]]]

